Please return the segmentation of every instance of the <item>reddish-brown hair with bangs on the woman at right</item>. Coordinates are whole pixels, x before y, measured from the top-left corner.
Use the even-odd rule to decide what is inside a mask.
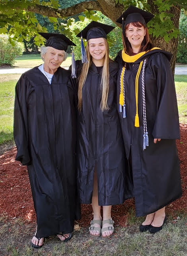
[[[124,29],[125,31],[126,31],[126,29],[128,29],[130,24],[132,24],[135,27],[144,26],[144,28],[146,30],[146,35],[144,36],[144,40],[142,41],[142,45],[141,45],[140,50],[138,52],[148,51],[151,48],[153,48],[154,45],[152,44],[152,42],[150,40],[150,35],[149,35],[148,28],[144,24],[142,24],[141,22],[137,21],[137,22],[131,22],[131,23],[127,24],[125,26],[125,29]],[[132,47],[131,47],[131,44],[130,44],[128,38],[125,35],[122,35],[122,40],[123,40],[123,46],[124,46],[125,52],[128,55],[131,56],[133,52],[132,52]]]

